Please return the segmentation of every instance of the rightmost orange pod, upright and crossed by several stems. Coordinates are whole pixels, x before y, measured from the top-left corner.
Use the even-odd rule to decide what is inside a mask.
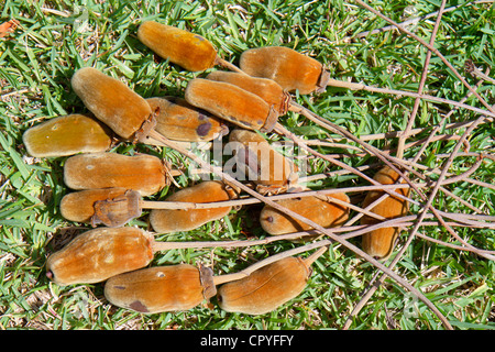
[[[399,175],[393,170],[389,166],[383,167],[374,177],[376,182],[382,185],[395,184],[399,178]],[[400,183],[405,183],[404,179]],[[408,196],[409,188],[398,188],[395,193]],[[385,193],[382,190],[370,190],[363,200],[363,208],[366,208],[372,202],[381,198]],[[382,216],[386,219],[393,219],[397,217],[404,217],[409,210],[409,204],[400,198],[388,196],[386,199],[382,200],[378,205],[374,206],[370,211]],[[369,216],[363,216],[361,219],[362,224],[375,224],[381,222],[376,218]],[[378,260],[386,260],[394,250],[395,241],[397,240],[399,233],[398,228],[382,228],[373,230],[369,233],[363,234],[362,245],[364,252]]]

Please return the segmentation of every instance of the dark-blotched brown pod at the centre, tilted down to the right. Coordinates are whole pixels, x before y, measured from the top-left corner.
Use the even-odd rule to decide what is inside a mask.
[[[263,195],[284,193],[296,187],[297,166],[258,133],[235,129],[229,134],[229,141],[241,143],[235,151],[238,167],[244,168],[246,180],[256,185]],[[233,145],[235,147],[235,145]]]

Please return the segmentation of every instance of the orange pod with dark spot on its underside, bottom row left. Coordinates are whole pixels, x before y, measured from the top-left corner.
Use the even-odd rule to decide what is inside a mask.
[[[211,297],[206,292],[200,270],[189,264],[142,268],[105,284],[112,305],[144,314],[191,309]]]

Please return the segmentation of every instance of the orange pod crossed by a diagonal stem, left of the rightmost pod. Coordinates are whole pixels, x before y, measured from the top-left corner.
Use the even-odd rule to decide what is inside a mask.
[[[328,201],[318,197],[298,197],[276,200],[276,204],[285,207],[323,228],[341,226],[349,217],[349,208],[331,202],[331,199],[349,202],[345,194],[332,194],[327,196]],[[293,219],[284,212],[265,206],[260,215],[260,223],[272,235],[312,230],[314,228],[297,219]]]

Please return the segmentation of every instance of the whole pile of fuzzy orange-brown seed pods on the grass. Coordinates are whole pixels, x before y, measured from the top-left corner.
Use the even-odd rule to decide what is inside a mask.
[[[74,74],[72,88],[90,114],[50,119],[23,135],[32,156],[68,156],[64,182],[73,191],[62,199],[61,213],[94,228],[53,253],[46,275],[58,285],[105,282],[105,295],[111,304],[145,314],[190,309],[215,295],[227,311],[272,311],[302,292],[311,263],[324,248],[305,258],[286,256],[219,276],[202,265],[146,267],[156,251],[173,246],[155,241],[151,232],[125,226],[141,217],[143,208],[152,208],[148,220],[156,233],[189,231],[222,219],[232,206],[183,209],[177,204],[229,201],[239,198],[242,189],[238,183],[204,180],[176,190],[165,201],[144,201],[143,197],[172,185],[173,165],[153,155],[109,151],[116,141],[169,146],[210,142],[228,134],[229,141],[239,145],[238,167],[254,175],[249,182],[252,189],[264,196],[302,191],[297,165],[258,132],[277,131],[278,118],[292,106],[290,92],[320,91],[329,75],[317,61],[286,47],[249,50],[238,68],[221,59],[206,38],[174,26],[144,22],[138,36],[155,54],[186,70],[204,72],[216,65],[229,70],[213,70],[205,78],[189,80],[184,98],[147,99],[95,68]],[[398,178],[388,167],[375,176],[381,184]],[[369,193],[363,206],[383,194]],[[407,194],[400,190],[400,195]],[[323,228],[343,224],[350,211],[344,193],[294,197],[276,204]],[[407,212],[407,202],[391,196],[370,211],[387,219],[399,217]],[[362,223],[375,221],[362,219]],[[274,237],[312,229],[268,205],[261,211],[260,223]],[[363,250],[386,258],[396,238],[396,228],[375,230],[363,235]]]

